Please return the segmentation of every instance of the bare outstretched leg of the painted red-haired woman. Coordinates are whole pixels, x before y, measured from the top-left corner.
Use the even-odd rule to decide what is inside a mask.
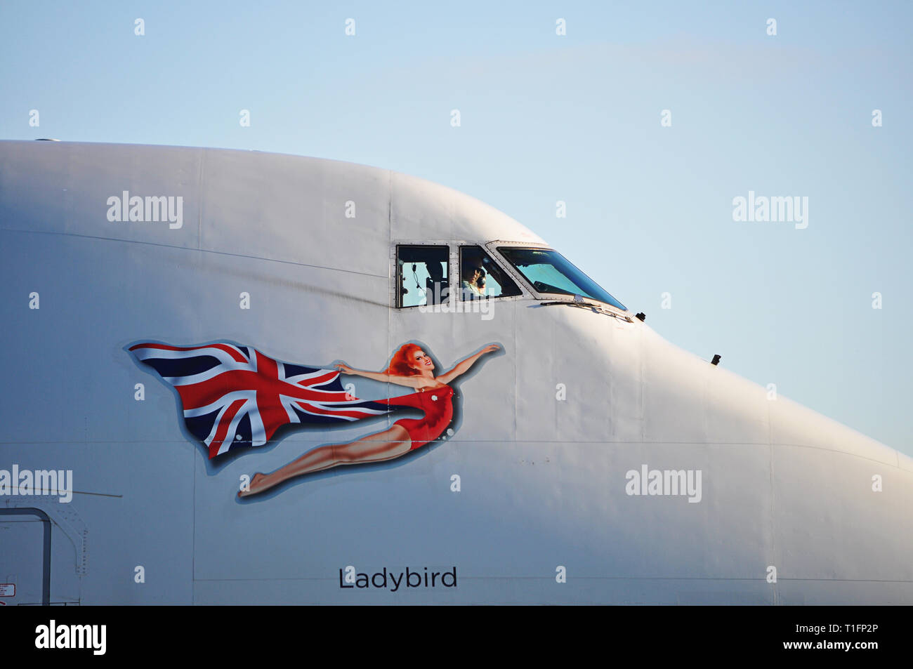
[[[349,444],[333,444],[311,449],[271,474],[257,473],[250,481],[250,490],[242,490],[237,496],[257,495],[257,493],[262,493],[288,481],[289,478],[320,472],[337,465],[357,465],[391,460],[408,453],[410,448],[412,448],[412,440],[409,438],[409,433],[402,425],[394,425],[389,430],[369,434]]]

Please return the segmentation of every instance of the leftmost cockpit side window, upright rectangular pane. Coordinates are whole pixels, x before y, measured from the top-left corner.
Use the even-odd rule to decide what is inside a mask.
[[[397,307],[446,303],[449,252],[448,246],[396,246]]]

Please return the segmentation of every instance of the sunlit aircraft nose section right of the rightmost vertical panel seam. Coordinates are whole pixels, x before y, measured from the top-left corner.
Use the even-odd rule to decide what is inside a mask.
[[[778,399],[771,498],[782,603],[913,603],[913,459]]]

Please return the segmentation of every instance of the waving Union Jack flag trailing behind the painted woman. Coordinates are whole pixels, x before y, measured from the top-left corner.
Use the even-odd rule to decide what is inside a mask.
[[[400,408],[347,394],[337,370],[276,361],[227,341],[202,346],[144,341],[128,350],[177,391],[187,431],[205,445],[210,459],[267,444],[289,423],[357,421]]]

